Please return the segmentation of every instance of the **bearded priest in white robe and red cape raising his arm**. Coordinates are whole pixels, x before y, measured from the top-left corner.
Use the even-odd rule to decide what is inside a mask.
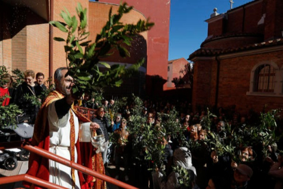
[[[80,163],[79,121],[90,121],[73,108],[75,97],[71,90],[74,82],[67,72],[67,68],[55,71],[55,90],[49,93],[38,112],[31,144]],[[90,123],[93,131],[98,128],[97,123]],[[35,153],[29,157],[27,174],[66,188],[81,188],[85,184],[82,173]]]

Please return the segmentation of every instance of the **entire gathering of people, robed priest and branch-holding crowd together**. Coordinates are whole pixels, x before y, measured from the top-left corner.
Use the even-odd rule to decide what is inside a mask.
[[[277,127],[269,125],[265,128],[267,135],[274,134],[274,141],[268,145],[260,143],[262,141],[250,142],[245,137],[252,133],[250,125],[260,123],[258,114],[241,115],[236,108],[218,108],[213,114],[202,109],[193,112],[189,102],[177,99],[165,102],[144,100],[138,113],[134,101],[118,105],[113,99],[96,101],[95,97],[85,94],[78,103],[71,92],[72,77],[66,73],[66,68],[55,71],[55,90],[46,98],[40,96],[43,90],[47,90],[42,73],[35,75],[31,70],[25,71],[25,80],[17,88],[12,87],[11,75],[1,76],[5,82],[0,87],[0,96],[11,97],[5,98],[2,105],[16,103],[23,110],[23,121],[34,125],[33,145],[102,174],[105,174],[107,164],[115,164],[116,179],[122,179],[120,166],[123,164],[122,180],[129,181],[131,169],[135,170],[135,178],[145,184],[142,187],[148,187],[149,181],[150,188],[282,188],[281,118],[275,120]],[[26,95],[38,97],[42,101],[41,108],[28,101]],[[74,102],[95,110],[92,120],[77,112]],[[141,129],[149,125],[150,129],[161,132],[166,121],[163,115],[175,110],[178,112],[176,123],[182,133],[178,136],[166,132],[161,135],[163,164],[156,165],[152,160],[146,160],[147,147],[138,151],[134,149],[133,140],[138,138],[142,143],[144,138],[131,132],[133,116],[138,114],[144,121]],[[78,141],[79,123],[89,123],[87,127],[90,127],[92,136],[103,135],[105,148],[101,153],[97,153],[90,142]],[[239,136],[241,140],[237,140],[237,144],[231,143]],[[237,145],[232,147],[232,153],[228,153],[228,149],[221,152],[221,148],[228,148],[231,144]],[[139,158],[136,158],[137,154]],[[34,153],[31,153],[29,162],[28,174],[66,188],[106,187],[104,181],[87,177]],[[148,168],[154,171],[148,171]]]

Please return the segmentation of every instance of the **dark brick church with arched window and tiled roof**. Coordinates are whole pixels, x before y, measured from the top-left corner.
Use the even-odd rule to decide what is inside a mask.
[[[237,112],[283,106],[283,1],[255,0],[208,18],[194,62],[193,108]],[[265,109],[266,110],[266,109]]]

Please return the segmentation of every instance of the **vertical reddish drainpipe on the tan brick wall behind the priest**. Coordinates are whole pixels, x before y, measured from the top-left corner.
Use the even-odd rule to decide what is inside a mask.
[[[49,21],[53,21],[53,0],[50,0],[49,2]],[[53,26],[51,24],[49,24],[49,77],[53,77]]]

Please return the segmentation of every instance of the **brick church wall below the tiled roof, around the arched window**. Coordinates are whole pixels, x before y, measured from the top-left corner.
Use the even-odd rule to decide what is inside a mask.
[[[283,66],[283,51],[260,53],[219,60],[219,87],[217,107],[236,105],[236,110],[246,114],[249,110],[262,112],[282,108],[282,97],[260,97],[247,95],[250,90],[252,68],[259,62],[272,61],[279,68]],[[198,105],[215,105],[217,62],[196,61],[193,82],[193,108]],[[196,109],[194,109],[196,110]]]

